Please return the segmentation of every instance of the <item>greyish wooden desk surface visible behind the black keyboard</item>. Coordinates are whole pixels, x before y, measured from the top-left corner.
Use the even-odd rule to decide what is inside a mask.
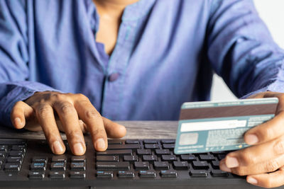
[[[124,139],[175,139],[178,129],[178,121],[119,121],[124,125],[127,134]],[[61,133],[62,139],[66,139]],[[26,130],[15,130],[13,128],[0,127],[0,137],[44,139],[43,132],[30,132]],[[86,135],[88,138],[88,134]]]

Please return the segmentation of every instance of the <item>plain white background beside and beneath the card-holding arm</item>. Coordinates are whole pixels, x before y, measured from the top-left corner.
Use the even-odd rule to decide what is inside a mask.
[[[275,42],[284,49],[284,0],[254,0],[259,15],[271,31]],[[212,87],[212,101],[235,99],[224,81],[214,75]]]

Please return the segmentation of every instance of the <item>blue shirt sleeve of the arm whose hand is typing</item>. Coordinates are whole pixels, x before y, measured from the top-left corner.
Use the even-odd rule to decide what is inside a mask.
[[[11,8],[13,7],[13,8]],[[23,1],[0,1],[0,125],[11,126],[11,109],[37,91],[55,88],[28,81],[28,28]]]

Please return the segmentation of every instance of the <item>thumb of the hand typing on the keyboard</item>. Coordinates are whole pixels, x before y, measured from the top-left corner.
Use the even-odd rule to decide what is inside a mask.
[[[121,138],[126,134],[126,128],[124,125],[119,125],[116,122],[112,122],[111,120],[102,117],[104,121],[104,128],[107,132],[107,137],[110,138]]]

